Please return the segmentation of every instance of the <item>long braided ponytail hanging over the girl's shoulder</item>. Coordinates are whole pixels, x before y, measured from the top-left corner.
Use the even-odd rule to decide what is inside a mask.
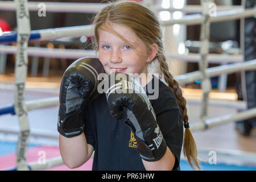
[[[164,75],[164,80],[167,82],[172,93],[175,94],[177,103],[179,104],[179,107],[180,107],[181,114],[183,115],[183,122],[185,126],[184,142],[183,142],[184,156],[187,157],[188,162],[193,169],[196,169],[196,168],[200,169],[199,163],[197,161],[196,143],[188,127],[188,115],[187,115],[187,107],[186,107],[187,102],[182,95],[183,93],[179,86],[179,83],[176,80],[174,80],[174,77],[168,71],[169,69],[168,69],[168,64],[166,63],[166,57],[164,57],[163,53],[159,53],[157,58],[160,64],[160,70]]]

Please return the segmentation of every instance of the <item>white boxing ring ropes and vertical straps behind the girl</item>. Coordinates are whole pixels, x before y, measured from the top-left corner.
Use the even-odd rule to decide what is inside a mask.
[[[27,2],[27,1],[0,1],[0,10],[14,10],[17,14],[24,16],[17,16],[18,29],[17,32],[4,32],[0,36],[0,52],[16,54],[15,63],[15,82],[14,82],[14,98],[15,103],[0,106],[0,115],[15,114],[19,119],[20,131],[4,131],[0,129],[1,133],[12,132],[19,135],[17,150],[16,150],[16,168],[17,170],[41,170],[49,167],[59,166],[63,164],[60,156],[55,156],[47,159],[46,163],[38,163],[37,161],[27,163],[27,148],[30,136],[34,137],[49,137],[55,138],[42,133],[30,133],[28,126],[27,115],[32,110],[43,109],[59,105],[59,97],[49,97],[37,100],[24,101],[25,83],[27,77],[27,56],[43,56],[66,59],[79,59],[81,57],[93,56],[97,57],[96,53],[91,50],[84,49],[59,49],[59,48],[40,48],[28,47],[28,42],[39,42],[43,40],[56,40],[60,38],[70,38],[81,36],[92,36],[92,26],[73,26],[62,28],[49,28],[45,30],[30,30],[29,11],[38,11],[39,4],[42,2]],[[198,103],[201,104],[200,122],[191,125],[191,131],[207,130],[211,127],[223,125],[224,123],[236,122],[243,119],[256,117],[256,108],[247,109],[240,101],[233,102],[232,105],[224,102],[216,102],[209,100],[209,92],[211,89],[210,77],[220,76],[222,74],[230,74],[236,72],[253,71],[256,70],[256,59],[244,61],[243,55],[218,55],[216,53],[209,53],[209,24],[211,22],[221,22],[225,20],[244,19],[254,16],[256,9],[245,9],[243,6],[216,6],[216,14],[209,15],[212,1],[201,1],[201,6],[185,6],[182,9],[162,9],[160,6],[150,7],[155,11],[183,11],[184,13],[194,13],[192,15],[185,15],[180,19],[172,19],[161,21],[162,27],[173,26],[174,24],[201,24],[200,53],[188,53],[188,55],[179,55],[178,53],[166,53],[166,58],[176,59],[180,61],[190,61],[199,63],[199,71],[187,73],[184,75],[175,76],[175,80],[179,84],[189,84],[196,80],[201,80],[201,89],[203,90],[203,98]],[[60,2],[43,2],[47,7],[47,11],[51,12],[79,12],[79,13],[97,13],[104,5],[102,3],[60,3]],[[22,8],[21,8],[22,7]],[[202,8],[203,7],[203,8]],[[196,14],[201,13],[201,14]],[[27,15],[27,16],[26,16]],[[242,38],[243,39],[243,38]],[[16,42],[17,46],[7,46],[7,43]],[[213,68],[208,68],[208,63],[227,63]],[[229,64],[228,64],[229,63]],[[231,63],[231,64],[230,64]],[[187,100],[187,102],[193,102]],[[242,103],[242,104],[241,104]],[[223,115],[221,117],[208,118],[208,106],[227,106],[235,109],[242,109],[240,113]],[[56,113],[57,115],[57,113]],[[192,123],[193,124],[193,123]],[[0,123],[1,126],[1,123]],[[200,150],[199,154],[207,153],[209,150]],[[242,158],[250,162],[256,163],[256,154],[250,152],[230,152],[217,151],[222,156],[233,156]],[[29,155],[29,154],[28,154]],[[90,161],[91,163],[92,161]],[[10,168],[9,168],[10,170]]]

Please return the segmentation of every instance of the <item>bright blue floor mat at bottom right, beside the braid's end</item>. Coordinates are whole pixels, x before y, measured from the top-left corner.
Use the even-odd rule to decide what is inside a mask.
[[[203,171],[256,171],[256,166],[236,166],[230,164],[209,164],[200,163]],[[180,160],[181,171],[194,171],[194,169],[185,160]]]

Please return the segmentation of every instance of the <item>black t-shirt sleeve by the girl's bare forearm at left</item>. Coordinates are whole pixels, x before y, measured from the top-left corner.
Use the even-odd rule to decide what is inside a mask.
[[[95,149],[96,140],[94,136],[92,122],[90,121],[90,118],[88,116],[89,116],[88,110],[84,111],[84,123],[85,123],[84,134],[85,134],[87,143],[91,144]]]

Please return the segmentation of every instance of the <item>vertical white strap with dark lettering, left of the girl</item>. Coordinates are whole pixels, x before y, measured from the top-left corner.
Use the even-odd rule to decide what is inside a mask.
[[[30,137],[30,127],[28,125],[27,110],[24,106],[25,82],[27,77],[27,45],[30,37],[30,16],[27,9],[26,0],[15,0],[16,19],[18,24],[18,41],[15,61],[15,90],[14,109],[18,115],[20,133],[16,151],[16,165],[18,170],[28,170],[26,164],[27,146]]]

